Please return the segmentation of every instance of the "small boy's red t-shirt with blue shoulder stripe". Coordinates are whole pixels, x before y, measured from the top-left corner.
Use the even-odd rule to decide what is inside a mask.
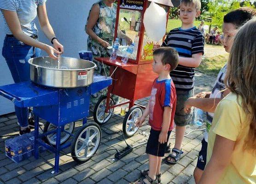
[[[172,109],[169,131],[174,128],[176,108],[176,90],[172,79],[158,81],[155,79],[149,100],[149,124],[153,130],[161,131],[164,107]]]

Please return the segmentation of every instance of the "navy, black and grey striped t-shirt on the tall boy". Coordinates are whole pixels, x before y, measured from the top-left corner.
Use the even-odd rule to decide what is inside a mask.
[[[179,52],[180,57],[192,57],[193,54],[204,54],[204,36],[202,32],[193,27],[191,29],[172,29],[164,40],[162,46],[170,46]],[[170,72],[176,90],[189,91],[194,87],[195,68],[178,65]]]

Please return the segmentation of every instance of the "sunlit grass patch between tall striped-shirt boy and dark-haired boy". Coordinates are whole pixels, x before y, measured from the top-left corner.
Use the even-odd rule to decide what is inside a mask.
[[[206,57],[202,60],[200,66],[197,69],[202,72],[217,76],[221,68],[227,62],[227,59],[228,54]]]

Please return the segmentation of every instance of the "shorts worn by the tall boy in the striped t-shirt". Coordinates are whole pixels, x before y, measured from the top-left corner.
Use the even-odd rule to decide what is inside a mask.
[[[175,121],[175,125],[183,127],[190,124],[192,120],[193,111],[190,114],[186,114],[184,111],[184,105],[186,100],[194,95],[194,90],[193,89],[190,91],[177,90],[176,95],[177,95],[177,104],[176,104],[174,121]]]

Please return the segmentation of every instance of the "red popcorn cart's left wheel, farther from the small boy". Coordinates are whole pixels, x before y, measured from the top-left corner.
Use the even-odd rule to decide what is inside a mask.
[[[110,104],[113,105],[114,104],[113,99],[111,98],[110,100],[111,100]],[[99,125],[102,125],[103,123],[109,121],[109,119],[112,116],[111,113],[114,111],[114,109],[110,109],[111,113],[105,113],[106,103],[107,103],[107,96],[102,96],[101,98],[99,98],[99,101],[97,102],[93,110],[93,119]]]

